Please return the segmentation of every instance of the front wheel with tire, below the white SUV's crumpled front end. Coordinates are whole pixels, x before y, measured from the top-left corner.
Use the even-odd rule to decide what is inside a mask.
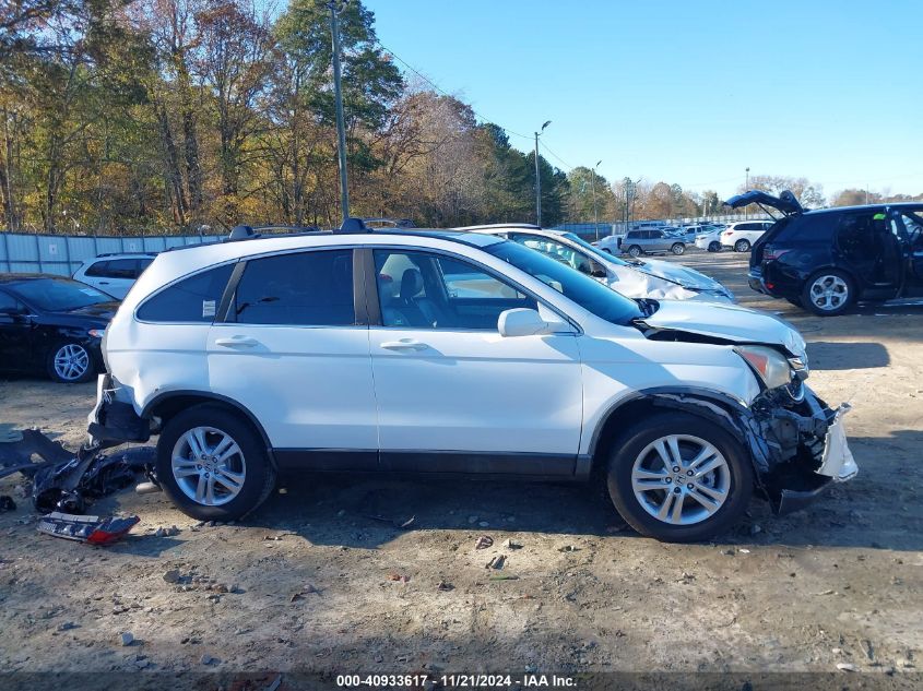
[[[663,442],[665,453],[675,453],[667,445],[670,439],[676,442],[681,463],[667,472],[656,445]],[[688,475],[695,473],[689,465],[700,452],[711,455],[699,461],[698,467],[714,467],[696,480]],[[663,479],[664,489],[660,489],[661,477],[670,478],[670,482]],[[635,481],[648,489],[636,491]],[[618,440],[606,484],[618,513],[641,535],[665,543],[696,543],[724,533],[741,519],[753,495],[754,469],[741,444],[715,422],[688,413],[661,413],[630,427]],[[666,519],[656,517],[664,504]]]

